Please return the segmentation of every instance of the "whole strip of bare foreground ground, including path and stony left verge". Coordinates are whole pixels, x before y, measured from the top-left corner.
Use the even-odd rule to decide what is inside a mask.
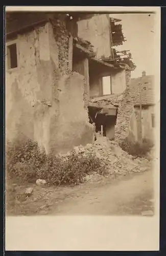
[[[120,177],[107,177],[78,186],[12,185],[20,194],[27,187],[32,195],[8,202],[7,215],[141,215],[153,213],[153,173],[147,170]]]

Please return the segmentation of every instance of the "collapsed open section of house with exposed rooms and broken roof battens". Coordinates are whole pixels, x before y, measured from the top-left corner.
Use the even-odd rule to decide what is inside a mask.
[[[137,124],[130,94],[131,71],[135,69],[129,51],[115,47],[126,40],[120,19],[95,14],[78,22],[78,36],[93,45],[89,59],[88,104],[91,121],[109,139],[137,141]]]

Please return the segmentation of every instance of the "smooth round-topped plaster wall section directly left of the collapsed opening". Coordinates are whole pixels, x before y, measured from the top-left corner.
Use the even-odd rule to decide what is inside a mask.
[[[88,123],[85,107],[84,76],[73,73],[64,75],[59,80],[59,115],[55,122],[51,120],[51,151],[66,153],[74,145],[86,145],[92,142],[92,125]]]

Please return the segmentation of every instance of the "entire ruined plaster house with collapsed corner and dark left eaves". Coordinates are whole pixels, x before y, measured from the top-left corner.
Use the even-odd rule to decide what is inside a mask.
[[[93,142],[92,122],[97,130],[104,123],[110,138],[121,139],[132,131],[132,67],[112,58],[110,39],[105,40],[107,54],[99,54],[95,44],[79,35],[82,21],[93,17],[76,12],[6,13],[7,140],[30,138],[57,154]],[[101,48],[107,45],[102,42]],[[122,93],[118,111],[115,99],[106,108],[94,102],[103,95],[106,76],[111,77],[113,97]]]

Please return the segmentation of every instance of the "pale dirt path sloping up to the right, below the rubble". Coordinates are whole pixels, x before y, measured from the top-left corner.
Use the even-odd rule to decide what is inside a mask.
[[[73,191],[74,192],[74,191]],[[153,174],[147,171],[121,180],[85,187],[56,205],[53,215],[140,215],[153,210]]]

